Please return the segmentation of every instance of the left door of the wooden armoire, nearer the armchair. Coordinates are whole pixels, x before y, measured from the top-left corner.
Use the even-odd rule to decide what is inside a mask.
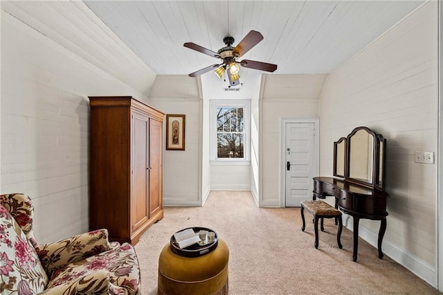
[[[143,226],[149,218],[149,120],[133,111],[132,116],[132,232]]]

